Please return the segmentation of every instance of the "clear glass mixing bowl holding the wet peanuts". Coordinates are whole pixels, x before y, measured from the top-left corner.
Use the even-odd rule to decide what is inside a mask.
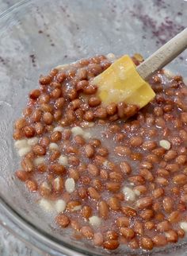
[[[30,0],[0,16],[0,203],[2,224],[9,230],[52,255],[139,254],[127,248],[94,248],[54,228],[52,218],[14,179],[19,159],[13,148],[13,121],[28,92],[38,86],[40,74],[96,54],[141,52],[146,57],[184,28],[186,8],[181,0]],[[183,52],[170,68],[185,76],[186,58]],[[151,254],[182,255],[185,248],[184,240]]]

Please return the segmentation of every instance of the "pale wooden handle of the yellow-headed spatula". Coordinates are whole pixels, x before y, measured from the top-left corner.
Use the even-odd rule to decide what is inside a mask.
[[[187,28],[178,33],[177,36],[168,41],[161,48],[158,48],[151,56],[144,60],[136,70],[143,80],[147,80],[151,74],[158,71],[174,60],[187,48]]]

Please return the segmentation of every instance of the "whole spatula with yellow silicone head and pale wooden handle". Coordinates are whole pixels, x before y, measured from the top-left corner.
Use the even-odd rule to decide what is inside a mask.
[[[93,84],[98,87],[97,95],[104,105],[124,102],[144,107],[155,97],[155,92],[145,80],[174,60],[185,48],[187,29],[178,33],[138,67],[130,56],[122,56],[93,79]]]

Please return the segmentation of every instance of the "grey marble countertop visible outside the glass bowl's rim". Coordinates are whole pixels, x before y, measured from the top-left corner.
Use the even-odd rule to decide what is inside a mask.
[[[16,4],[17,0],[0,0],[0,14],[10,6]],[[0,208],[0,219],[2,217]],[[40,253],[37,250],[29,248],[25,242],[20,241],[5,227],[0,226],[0,255],[1,256],[49,256],[49,254]]]

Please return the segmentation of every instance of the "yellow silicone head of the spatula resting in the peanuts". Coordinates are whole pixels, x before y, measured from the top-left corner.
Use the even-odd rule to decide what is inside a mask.
[[[95,77],[93,84],[98,86],[97,95],[105,105],[125,102],[144,107],[155,97],[155,92],[139,76],[128,55],[122,56],[105,72]]]

